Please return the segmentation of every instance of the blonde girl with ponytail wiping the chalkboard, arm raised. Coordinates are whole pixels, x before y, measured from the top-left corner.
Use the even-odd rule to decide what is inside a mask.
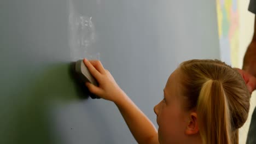
[[[229,65],[199,59],[179,65],[167,80],[164,99],[154,107],[157,131],[99,61],[84,63],[99,83],[86,83],[89,91],[117,105],[138,143],[238,143],[251,95]]]

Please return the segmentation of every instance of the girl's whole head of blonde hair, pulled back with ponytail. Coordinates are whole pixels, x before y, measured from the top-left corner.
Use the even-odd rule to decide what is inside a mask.
[[[237,70],[218,60],[183,62],[185,109],[195,109],[203,143],[238,143],[251,95]]]

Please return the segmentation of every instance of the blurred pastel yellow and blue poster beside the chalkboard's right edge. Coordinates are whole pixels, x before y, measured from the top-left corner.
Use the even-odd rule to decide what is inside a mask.
[[[238,63],[237,0],[217,0],[220,57],[228,64]]]

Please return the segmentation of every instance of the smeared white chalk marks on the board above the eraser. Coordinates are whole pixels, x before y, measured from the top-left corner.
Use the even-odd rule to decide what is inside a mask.
[[[72,0],[69,1],[69,48],[71,60],[81,58],[100,59],[100,53],[95,52],[93,44],[96,42],[95,26],[92,16],[77,13]],[[94,53],[89,53],[94,52]]]

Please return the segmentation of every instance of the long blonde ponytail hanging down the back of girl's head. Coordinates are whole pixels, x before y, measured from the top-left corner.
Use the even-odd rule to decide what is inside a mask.
[[[221,81],[207,80],[203,83],[197,101],[197,115],[204,144],[231,144],[236,141],[233,139],[230,109]]]

